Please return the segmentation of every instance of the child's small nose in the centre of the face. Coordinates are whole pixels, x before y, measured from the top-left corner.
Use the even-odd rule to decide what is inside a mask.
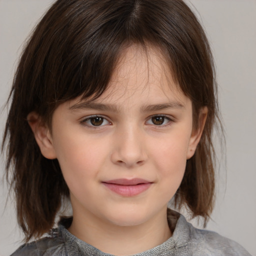
[[[146,159],[146,143],[142,131],[136,126],[116,131],[111,161],[120,166],[133,167],[142,165]]]

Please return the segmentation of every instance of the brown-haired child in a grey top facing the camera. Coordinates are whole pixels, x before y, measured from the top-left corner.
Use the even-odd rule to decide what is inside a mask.
[[[215,92],[181,0],[56,1],[20,59],[4,134],[26,241],[49,236],[13,255],[249,255],[167,209],[210,216]],[[72,217],[51,229],[66,199]]]

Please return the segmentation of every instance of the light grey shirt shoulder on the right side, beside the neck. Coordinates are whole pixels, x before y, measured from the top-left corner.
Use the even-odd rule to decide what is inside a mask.
[[[173,238],[178,247],[194,256],[251,256],[240,244],[216,232],[199,229],[179,214]],[[186,255],[186,254],[185,254]]]

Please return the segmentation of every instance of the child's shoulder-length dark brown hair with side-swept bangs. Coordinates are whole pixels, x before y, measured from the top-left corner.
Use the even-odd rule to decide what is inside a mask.
[[[26,116],[35,111],[51,124],[54,109],[81,96],[97,98],[107,87],[123,49],[136,44],[160,49],[174,80],[207,120],[174,195],[205,221],[214,204],[213,126],[218,118],[214,63],[195,15],[182,0],[57,0],[27,41],[8,101],[2,150],[14,189],[18,223],[26,240],[52,228],[69,190],[57,159],[42,156]]]

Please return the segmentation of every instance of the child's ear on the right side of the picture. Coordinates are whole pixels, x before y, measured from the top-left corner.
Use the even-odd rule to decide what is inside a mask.
[[[199,113],[198,127],[197,129],[193,129],[191,132],[186,159],[191,158],[195,152],[196,146],[199,143],[202,135],[204,124],[207,118],[207,113],[208,113],[208,108],[206,106],[202,107]]]

